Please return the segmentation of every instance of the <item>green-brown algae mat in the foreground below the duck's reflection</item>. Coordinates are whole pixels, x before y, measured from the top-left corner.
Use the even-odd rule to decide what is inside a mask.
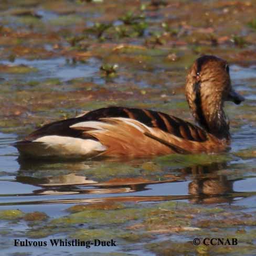
[[[154,205],[130,204],[124,209],[109,208],[106,203],[90,204],[88,209],[85,207],[86,205],[83,206],[82,211],[77,213],[48,220],[44,226],[37,222],[29,227],[26,236],[34,239],[47,238],[66,232],[70,239],[85,241],[112,238],[118,242],[119,246],[130,244],[134,247],[140,244],[147,250],[165,255],[170,247],[175,253],[185,253],[188,250],[200,254],[207,251],[225,251],[226,247],[205,247],[204,244],[195,247],[191,243],[195,237],[215,237],[218,232],[220,237],[236,237],[239,240],[236,250],[255,250],[250,241],[255,239],[256,233],[248,229],[255,225],[255,217],[246,212],[235,213],[233,211],[235,206],[231,206],[230,209],[167,201]],[[72,208],[75,209],[77,206]],[[28,213],[28,215],[32,216],[33,213]],[[111,225],[111,228],[106,225]],[[247,230],[233,229],[238,226],[247,227]],[[170,233],[175,233],[176,238],[185,234],[187,239],[179,243],[170,241],[168,237]],[[154,242],[156,234],[161,234],[164,240],[161,247],[156,246]]]

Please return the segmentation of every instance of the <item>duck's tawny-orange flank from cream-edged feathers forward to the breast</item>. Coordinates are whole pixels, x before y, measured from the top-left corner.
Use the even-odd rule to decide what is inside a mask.
[[[71,128],[83,131],[85,137],[89,135],[101,142],[106,147],[106,150],[100,153],[102,156],[143,157],[221,150],[221,145],[215,141],[214,136],[207,135],[204,141],[192,141],[129,118],[86,121],[74,124]]]

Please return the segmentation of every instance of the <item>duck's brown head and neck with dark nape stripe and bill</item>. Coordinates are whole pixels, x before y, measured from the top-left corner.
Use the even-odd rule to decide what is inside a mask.
[[[205,55],[198,58],[187,75],[186,98],[196,121],[209,133],[229,137],[223,102],[240,104],[242,95],[232,89],[226,60]]]

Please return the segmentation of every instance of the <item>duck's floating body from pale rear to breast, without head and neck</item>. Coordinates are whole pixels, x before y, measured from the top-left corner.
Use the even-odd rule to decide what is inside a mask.
[[[16,146],[20,152],[26,147],[28,153],[28,144],[37,143],[44,146],[46,156],[148,156],[207,151],[209,142],[200,127],[174,116],[110,107],[47,124]],[[42,154],[42,150],[35,151]]]

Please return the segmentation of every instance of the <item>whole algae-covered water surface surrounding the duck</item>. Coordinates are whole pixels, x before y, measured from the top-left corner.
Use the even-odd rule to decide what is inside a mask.
[[[2,2],[3,255],[256,254],[253,1],[197,1],[193,17],[194,1]],[[193,122],[184,83],[201,54],[227,59],[233,87],[246,98],[225,106],[229,152],[125,161],[18,158],[12,144],[36,127],[103,106]],[[238,245],[193,245],[206,237],[237,238]],[[15,247],[14,239],[47,246]],[[50,239],[113,239],[117,246],[52,247]]]

